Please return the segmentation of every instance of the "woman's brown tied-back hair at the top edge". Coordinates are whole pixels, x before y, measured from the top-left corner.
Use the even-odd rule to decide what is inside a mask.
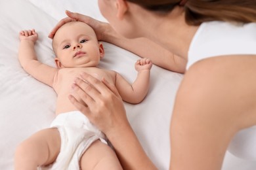
[[[169,12],[181,5],[181,0],[127,1],[158,12]],[[190,25],[208,21],[256,22],[256,0],[183,0],[182,6],[186,23]]]

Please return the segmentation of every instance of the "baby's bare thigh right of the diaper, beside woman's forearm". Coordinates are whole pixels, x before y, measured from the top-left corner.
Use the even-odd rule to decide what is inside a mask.
[[[95,141],[83,154],[81,158],[81,169],[123,169],[116,156],[116,153],[110,146]]]

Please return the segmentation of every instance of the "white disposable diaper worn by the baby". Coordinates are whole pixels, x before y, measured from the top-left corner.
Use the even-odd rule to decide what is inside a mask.
[[[106,143],[106,136],[79,111],[58,114],[51,127],[60,132],[60,154],[50,169],[78,170],[79,160],[89,146],[100,139]]]

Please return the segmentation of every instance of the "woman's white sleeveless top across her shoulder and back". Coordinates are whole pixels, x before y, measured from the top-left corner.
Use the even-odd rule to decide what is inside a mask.
[[[190,44],[186,69],[203,58],[229,54],[256,54],[256,23],[204,22]]]

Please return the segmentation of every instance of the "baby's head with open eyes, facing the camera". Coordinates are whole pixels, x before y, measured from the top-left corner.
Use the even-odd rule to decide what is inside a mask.
[[[95,67],[104,56],[95,31],[83,22],[68,22],[56,31],[53,50],[58,68]]]

